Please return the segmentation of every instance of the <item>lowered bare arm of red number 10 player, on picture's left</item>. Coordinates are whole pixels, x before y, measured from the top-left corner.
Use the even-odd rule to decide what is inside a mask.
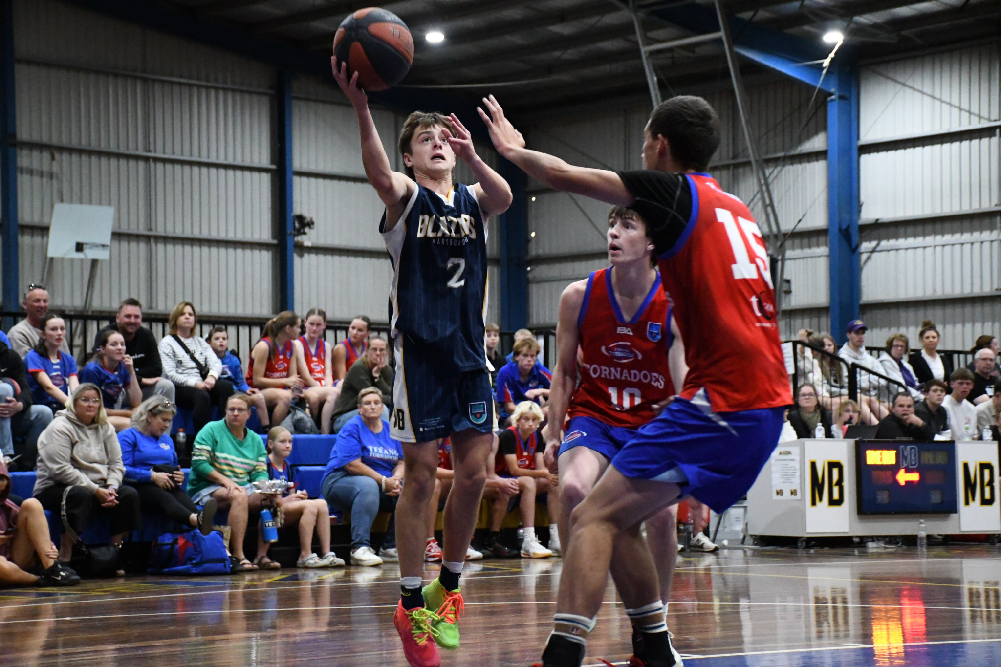
[[[560,451],[564,419],[570,409],[570,399],[577,387],[577,349],[581,344],[581,331],[577,319],[584,303],[587,280],[571,283],[560,297],[560,320],[557,323],[557,365],[553,370],[550,388],[550,420],[546,434],[546,465],[556,471],[557,452]]]

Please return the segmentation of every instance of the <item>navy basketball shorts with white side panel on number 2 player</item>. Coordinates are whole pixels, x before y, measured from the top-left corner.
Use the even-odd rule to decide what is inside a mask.
[[[396,375],[389,435],[400,442],[438,440],[466,429],[496,429],[493,391],[485,367],[463,371],[447,354],[397,334]]]

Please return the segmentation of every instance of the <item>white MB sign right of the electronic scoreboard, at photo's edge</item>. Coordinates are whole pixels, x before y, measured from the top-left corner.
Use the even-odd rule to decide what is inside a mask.
[[[956,443],[956,500],[963,532],[1001,532],[997,443]]]

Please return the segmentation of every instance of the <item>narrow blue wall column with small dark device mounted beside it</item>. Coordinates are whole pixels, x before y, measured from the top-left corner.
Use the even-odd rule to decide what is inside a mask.
[[[295,309],[295,236],[292,222],[292,75],[278,73],[278,310]]]

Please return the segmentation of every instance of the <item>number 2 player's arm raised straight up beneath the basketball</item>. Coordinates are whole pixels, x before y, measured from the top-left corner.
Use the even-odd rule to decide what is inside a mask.
[[[354,113],[358,117],[358,130],[361,134],[361,164],[365,170],[368,182],[375,188],[378,198],[382,200],[387,209],[398,206],[396,218],[402,212],[402,206],[406,199],[413,193],[416,184],[404,174],[394,172],[389,165],[389,158],[382,148],[382,141],[378,138],[378,131],[375,129],[375,121],[372,120],[371,112],[368,110],[368,96],[358,88],[358,73],[355,72],[348,79],[347,63],[338,63],[336,58],[331,58],[333,66],[333,78],[337,80],[340,90],[347,95]],[[390,223],[390,211],[386,215],[386,231],[391,229],[396,221]]]

